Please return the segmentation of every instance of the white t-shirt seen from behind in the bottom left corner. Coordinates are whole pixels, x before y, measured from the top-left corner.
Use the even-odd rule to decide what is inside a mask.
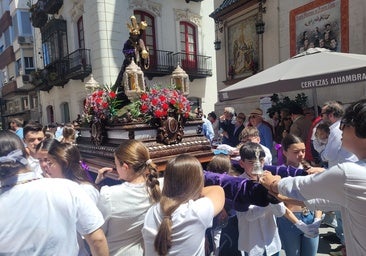
[[[0,189],[0,255],[77,255],[77,232],[100,228],[102,214],[79,184],[35,178],[20,174],[17,181],[24,183]]]

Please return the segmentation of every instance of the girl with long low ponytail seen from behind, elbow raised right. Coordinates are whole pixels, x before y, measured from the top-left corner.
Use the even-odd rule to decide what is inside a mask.
[[[145,255],[205,255],[205,231],[224,206],[220,186],[203,187],[201,163],[182,154],[164,172],[160,203],[146,214]]]

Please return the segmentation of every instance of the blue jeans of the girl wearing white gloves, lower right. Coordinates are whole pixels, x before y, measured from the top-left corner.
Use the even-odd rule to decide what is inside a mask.
[[[304,218],[301,212],[294,212],[295,216],[304,223],[309,219]],[[310,223],[312,223],[311,221]],[[277,218],[278,232],[280,234],[282,248],[286,256],[315,256],[318,251],[319,236],[308,238],[285,217]]]

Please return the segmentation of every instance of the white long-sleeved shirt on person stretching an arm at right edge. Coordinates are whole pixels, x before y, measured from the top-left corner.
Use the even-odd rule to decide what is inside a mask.
[[[310,210],[341,210],[348,255],[366,255],[366,160],[345,162],[313,175],[287,177],[280,194],[305,201]],[[311,200],[312,199],[312,200]]]

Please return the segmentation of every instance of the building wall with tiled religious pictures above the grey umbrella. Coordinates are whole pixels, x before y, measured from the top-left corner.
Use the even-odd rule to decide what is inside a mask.
[[[335,51],[366,54],[365,13],[366,2],[361,0],[216,0],[210,16],[216,21],[216,41],[221,43],[216,51],[220,62],[216,72],[218,91],[303,50],[299,45],[304,41],[301,37],[308,37],[305,41],[319,47],[317,34],[325,36],[329,27],[332,37],[338,39]],[[261,31],[256,30],[259,21],[264,25]],[[294,99],[299,93],[305,93],[309,106],[315,100],[318,105],[327,100],[348,104],[366,97],[366,85],[360,82],[318,88],[317,99],[312,90],[283,92],[279,96]],[[233,106],[237,112],[249,113],[255,107],[270,104],[270,96],[218,101],[215,109],[220,113],[225,106]]]

